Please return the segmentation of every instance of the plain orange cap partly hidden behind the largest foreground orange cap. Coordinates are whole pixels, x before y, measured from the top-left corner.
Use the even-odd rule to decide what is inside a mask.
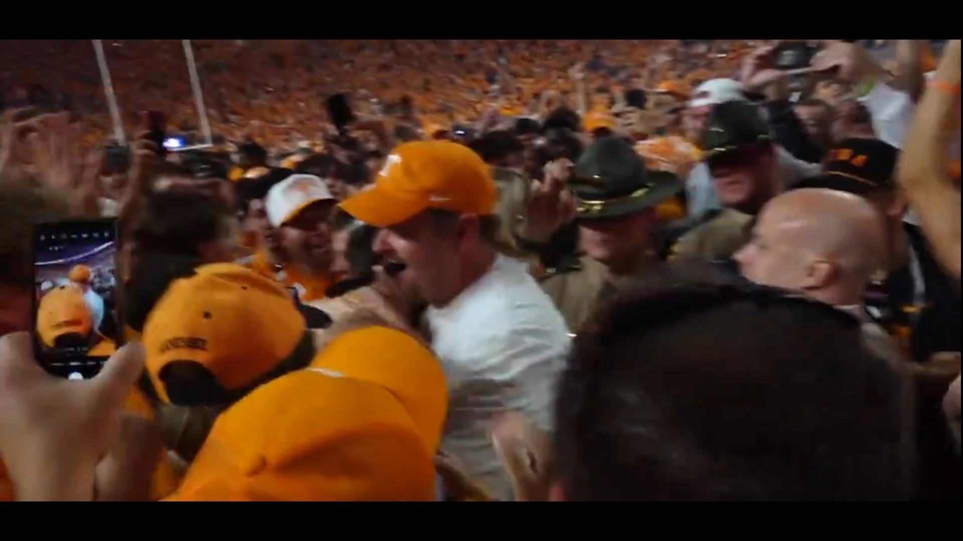
[[[411,416],[426,449],[438,448],[448,411],[448,384],[441,364],[425,345],[400,330],[371,326],[334,339],[311,367],[388,390]]]

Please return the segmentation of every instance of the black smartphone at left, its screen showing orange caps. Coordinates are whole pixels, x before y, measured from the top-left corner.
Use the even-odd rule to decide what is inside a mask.
[[[89,379],[123,344],[117,219],[34,227],[34,352],[50,374]]]

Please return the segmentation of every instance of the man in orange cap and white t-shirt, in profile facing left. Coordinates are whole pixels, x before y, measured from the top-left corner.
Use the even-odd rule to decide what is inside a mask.
[[[404,296],[429,304],[431,346],[450,390],[442,451],[508,500],[511,484],[487,424],[499,412],[518,411],[550,425],[552,382],[569,340],[527,265],[499,252],[497,199],[490,167],[471,149],[411,142],[341,208],[382,228],[377,255],[403,269],[394,279]]]

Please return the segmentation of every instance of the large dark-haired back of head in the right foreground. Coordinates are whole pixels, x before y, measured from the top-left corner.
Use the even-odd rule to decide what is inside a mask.
[[[661,267],[575,342],[560,482],[575,501],[902,500],[899,390],[846,314]]]

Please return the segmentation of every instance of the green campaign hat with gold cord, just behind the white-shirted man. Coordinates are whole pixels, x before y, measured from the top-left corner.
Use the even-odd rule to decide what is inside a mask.
[[[632,145],[616,136],[596,140],[586,149],[569,186],[578,219],[632,216],[654,209],[683,188],[677,175],[647,170]]]

